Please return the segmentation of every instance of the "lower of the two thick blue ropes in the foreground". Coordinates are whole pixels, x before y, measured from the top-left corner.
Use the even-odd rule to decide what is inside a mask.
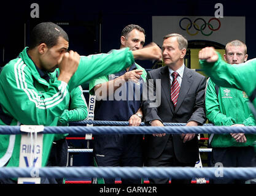
[[[0,178],[46,177],[46,178],[169,178],[191,179],[206,178],[256,178],[256,167],[2,167]]]

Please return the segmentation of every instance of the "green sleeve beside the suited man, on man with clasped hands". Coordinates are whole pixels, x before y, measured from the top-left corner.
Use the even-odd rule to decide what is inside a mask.
[[[206,118],[211,121],[215,126],[231,126],[235,120],[230,116],[226,116],[220,112],[219,98],[215,91],[215,84],[211,80],[208,80],[206,88],[205,108]]]

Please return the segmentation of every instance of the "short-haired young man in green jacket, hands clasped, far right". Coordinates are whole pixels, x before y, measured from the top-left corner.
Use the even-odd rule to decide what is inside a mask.
[[[240,40],[233,40],[225,47],[224,59],[232,65],[247,60],[247,47]],[[244,91],[227,88],[209,78],[206,88],[206,117],[215,126],[255,126],[256,121],[248,105],[249,99]],[[255,157],[254,141],[256,135],[244,133],[212,134],[211,165],[222,163],[223,167],[250,167]],[[212,179],[214,183],[244,183],[242,180]]]

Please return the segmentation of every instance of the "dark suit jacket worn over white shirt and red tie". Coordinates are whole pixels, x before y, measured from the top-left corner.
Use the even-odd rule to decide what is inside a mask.
[[[153,79],[154,88],[156,79],[161,79],[161,104],[158,107],[150,106],[152,101],[142,102],[144,119],[146,123],[158,119],[163,123],[188,123],[196,121],[205,123],[204,92],[206,78],[195,71],[185,67],[180,86],[179,97],[176,108],[171,102],[171,83],[169,79],[168,66],[151,70],[147,79]],[[155,89],[154,89],[155,92]],[[164,137],[153,137],[145,135],[145,156],[157,158],[163,152],[168,141],[169,134]],[[177,160],[182,163],[193,163],[199,160],[198,138],[183,143],[179,134],[173,134],[174,153]]]

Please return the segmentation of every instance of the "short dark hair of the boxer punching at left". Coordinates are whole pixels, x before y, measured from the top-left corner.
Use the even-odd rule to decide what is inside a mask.
[[[52,22],[40,23],[31,32],[29,49],[33,49],[41,43],[45,43],[48,48],[52,48],[58,43],[59,37],[69,41],[68,34],[60,26]]]

